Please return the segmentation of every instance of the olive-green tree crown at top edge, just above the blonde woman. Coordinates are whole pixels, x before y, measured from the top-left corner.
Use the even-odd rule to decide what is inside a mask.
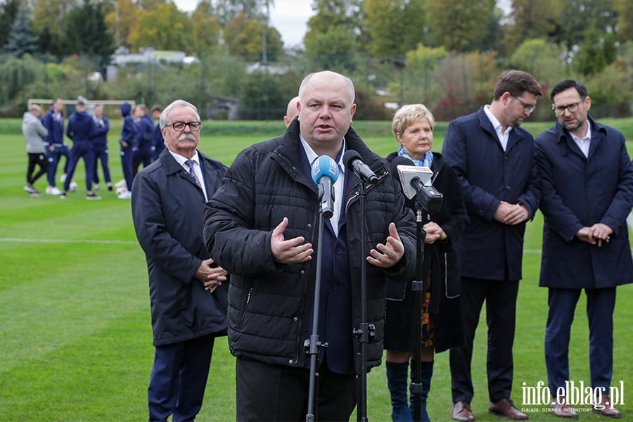
[[[365,25],[374,56],[402,56],[425,34],[423,0],[365,0]]]

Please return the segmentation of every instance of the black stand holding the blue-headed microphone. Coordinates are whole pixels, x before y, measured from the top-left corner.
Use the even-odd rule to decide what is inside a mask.
[[[308,409],[305,415],[306,422],[314,422],[315,411],[314,404],[316,402],[319,388],[319,350],[321,347],[328,347],[328,343],[322,344],[319,341],[319,302],[321,302],[321,263],[323,262],[323,230],[325,226],[322,207],[320,205],[323,199],[324,191],[319,184],[319,234],[317,235],[316,245],[316,280],[314,281],[314,304],[312,305],[312,334],[310,338],[303,343],[303,351],[310,358],[310,381],[308,391]]]

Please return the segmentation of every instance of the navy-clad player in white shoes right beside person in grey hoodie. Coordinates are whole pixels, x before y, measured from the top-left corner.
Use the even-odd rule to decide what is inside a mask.
[[[59,195],[61,193],[55,184],[59,160],[62,156],[66,158],[64,174],[68,173],[70,164],[70,151],[68,150],[68,145],[64,142],[63,108],[64,101],[57,98],[53,101],[51,108],[46,111],[44,117],[41,118],[41,124],[44,124],[46,130],[49,131],[48,136],[44,138],[44,147],[46,148],[46,155],[48,155],[49,158],[49,172],[46,175],[46,179],[49,181],[49,186],[46,187],[46,193],[49,193],[49,195]]]

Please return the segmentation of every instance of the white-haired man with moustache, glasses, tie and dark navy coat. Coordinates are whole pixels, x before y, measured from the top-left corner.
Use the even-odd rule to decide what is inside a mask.
[[[132,217],[149,274],[155,357],[150,421],[193,421],[217,335],[226,335],[226,271],[205,250],[205,201],[226,166],[196,149],[200,116],[177,100],[160,115],[167,148],[136,175]]]

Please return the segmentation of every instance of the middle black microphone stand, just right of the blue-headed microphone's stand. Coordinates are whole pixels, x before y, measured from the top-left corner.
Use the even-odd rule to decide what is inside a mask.
[[[359,189],[360,196],[360,225],[361,225],[361,245],[364,245],[365,239],[365,182],[359,176],[361,187]],[[365,248],[361,247],[361,321],[359,328],[354,328],[354,337],[357,338],[357,354],[356,354],[356,374],[358,381],[358,404],[356,409],[356,420],[358,422],[368,421],[367,419],[367,343],[376,338],[376,327],[367,322],[367,286],[366,286],[366,269],[365,269]]]

